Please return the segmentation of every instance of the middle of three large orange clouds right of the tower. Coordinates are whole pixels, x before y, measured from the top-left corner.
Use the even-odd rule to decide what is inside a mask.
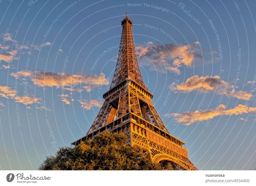
[[[249,100],[253,97],[252,94],[246,91],[235,91],[235,88],[232,84],[221,80],[220,76],[201,76],[194,75],[186,80],[186,82],[175,85],[172,83],[170,85],[172,90],[175,93],[189,93],[191,91],[199,91],[200,93],[204,93],[205,91],[214,91],[216,89],[216,93],[221,95],[225,94],[227,97],[235,97],[238,99]]]

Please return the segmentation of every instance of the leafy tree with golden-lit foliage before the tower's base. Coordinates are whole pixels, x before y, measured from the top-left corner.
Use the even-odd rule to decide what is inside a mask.
[[[60,147],[56,156],[48,156],[39,170],[173,170],[170,165],[153,163],[149,153],[126,145],[124,133],[108,131],[74,148]]]

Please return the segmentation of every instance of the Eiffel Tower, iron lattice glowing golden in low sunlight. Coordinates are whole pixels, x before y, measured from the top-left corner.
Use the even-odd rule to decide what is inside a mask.
[[[123,132],[127,143],[142,153],[149,151],[153,162],[171,162],[175,170],[197,170],[188,159],[185,143],[170,134],[151,101],[153,94],[140,73],[127,13],[121,25],[116,69],[110,89],[103,94],[105,101],[87,134],[71,144],[76,146],[105,130]]]

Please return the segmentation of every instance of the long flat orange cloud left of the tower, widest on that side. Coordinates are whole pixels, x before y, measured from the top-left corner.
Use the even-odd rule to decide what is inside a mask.
[[[15,78],[30,77],[31,81],[39,87],[56,87],[72,91],[82,91],[83,89],[76,88],[77,85],[83,85],[87,92],[90,92],[97,86],[108,85],[109,81],[105,74],[98,75],[78,75],[67,73],[52,73],[40,70],[24,71],[21,70],[17,73],[11,73]]]

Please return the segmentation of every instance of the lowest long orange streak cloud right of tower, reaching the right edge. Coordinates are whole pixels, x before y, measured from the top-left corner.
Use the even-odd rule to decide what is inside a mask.
[[[195,122],[203,122],[210,120],[220,115],[239,115],[246,114],[249,112],[256,112],[256,107],[248,107],[247,105],[237,105],[235,108],[225,110],[225,105],[220,105],[215,110],[209,111],[195,111],[195,112],[184,112],[184,113],[168,113],[164,116],[167,118],[175,117],[174,120],[184,125],[191,125]]]

